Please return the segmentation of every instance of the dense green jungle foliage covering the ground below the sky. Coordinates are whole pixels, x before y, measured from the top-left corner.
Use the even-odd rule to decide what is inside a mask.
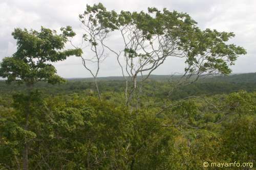
[[[246,76],[248,82],[241,81]],[[106,90],[100,102],[90,79],[56,86],[39,83],[39,90],[30,94],[16,94],[17,88],[26,88],[2,81],[0,167],[21,168],[26,141],[33,169],[204,169],[204,161],[255,164],[253,76],[217,77],[216,82],[208,78],[180,89],[198,98],[176,96],[168,102],[162,97],[168,82],[152,77],[145,84],[143,105],[133,112],[123,103],[123,82],[115,79],[99,81]],[[172,107],[163,110],[163,103]],[[32,112],[29,131],[23,129],[26,109]]]

